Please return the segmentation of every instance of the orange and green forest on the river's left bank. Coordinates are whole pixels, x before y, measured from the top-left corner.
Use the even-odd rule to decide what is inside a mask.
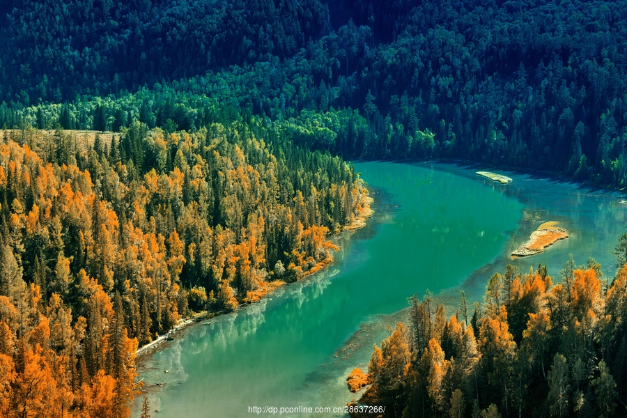
[[[367,194],[257,118],[1,135],[2,417],[127,417],[138,345],[319,269]]]

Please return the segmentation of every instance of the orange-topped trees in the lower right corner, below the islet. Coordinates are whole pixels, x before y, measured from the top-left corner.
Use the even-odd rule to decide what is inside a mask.
[[[613,280],[571,254],[557,283],[546,265],[507,265],[483,303],[461,294],[451,316],[429,292],[409,324],[374,346],[362,405],[384,417],[624,417],[627,400],[627,235]],[[471,313],[472,311],[472,313]],[[351,414],[353,417],[371,416]]]

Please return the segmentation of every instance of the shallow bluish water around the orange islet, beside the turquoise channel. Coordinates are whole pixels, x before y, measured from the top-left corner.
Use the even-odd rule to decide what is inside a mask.
[[[435,164],[433,167],[473,178],[472,170],[463,164]],[[488,187],[499,189],[505,196],[524,205],[520,225],[502,249],[502,254],[492,263],[472,272],[460,286],[449,288],[440,297],[457,300],[459,291],[464,290],[468,299],[479,300],[491,274],[504,272],[508,264],[515,265],[521,272],[534,270],[539,263],[548,266],[548,274],[557,283],[560,270],[573,254],[576,265],[587,265],[589,257],[601,263],[603,279],[611,283],[616,272],[616,259],[612,250],[619,237],[627,232],[627,205],[621,203],[623,194],[592,185],[574,183],[564,178],[553,178],[520,171],[499,171],[513,178],[509,185],[500,185],[491,180],[477,178]],[[568,239],[559,240],[541,254],[529,257],[510,258],[510,254],[529,240],[529,235],[544,222],[555,221],[559,228],[568,231]]]

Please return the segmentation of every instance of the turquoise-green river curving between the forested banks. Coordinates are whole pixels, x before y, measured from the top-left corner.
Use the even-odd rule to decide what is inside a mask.
[[[451,311],[460,290],[469,302],[478,300],[490,275],[507,263],[522,271],[547,264],[557,280],[569,253],[578,265],[593,256],[607,277],[614,275],[611,251],[627,225],[627,205],[617,194],[525,173],[504,172],[514,180],[500,185],[474,173],[483,167],[363,162],[355,168],[376,201],[366,227],[336,237],[342,250],[323,272],[210,325],[188,327],[141,359],[139,378],[150,409],[159,410],[153,416],[341,407],[359,397],[348,391],[346,376],[356,366],[366,371],[373,343],[403,319],[415,293],[428,289]],[[550,220],[570,238],[511,261],[511,251]]]

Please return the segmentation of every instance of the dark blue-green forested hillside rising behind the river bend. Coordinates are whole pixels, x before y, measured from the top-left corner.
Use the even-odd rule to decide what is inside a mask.
[[[336,137],[311,146],[344,157],[464,157],[626,185],[625,1],[13,6],[0,127],[196,130],[199,95],[273,121],[316,116]],[[139,91],[136,111],[99,103]]]

